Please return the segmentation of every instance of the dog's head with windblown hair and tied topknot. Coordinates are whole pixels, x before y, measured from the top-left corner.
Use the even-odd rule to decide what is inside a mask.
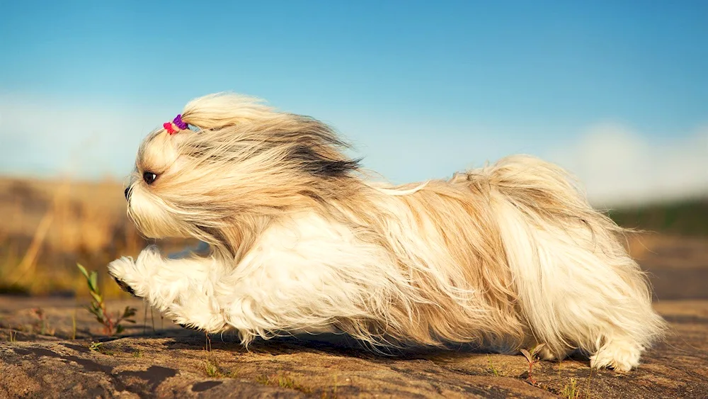
[[[125,189],[144,235],[195,237],[227,249],[244,229],[337,196],[358,161],[324,123],[234,94],[195,99],[139,148]]]

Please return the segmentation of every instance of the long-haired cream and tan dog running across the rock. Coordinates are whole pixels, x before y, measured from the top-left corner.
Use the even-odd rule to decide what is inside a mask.
[[[544,359],[579,349],[622,371],[663,331],[622,229],[559,167],[513,156],[394,187],[368,182],[312,118],[232,94],[182,115],[191,130],[142,143],[128,214],[144,235],[210,251],[109,265],[178,323],[244,344],[302,331],[380,348],[543,343]]]

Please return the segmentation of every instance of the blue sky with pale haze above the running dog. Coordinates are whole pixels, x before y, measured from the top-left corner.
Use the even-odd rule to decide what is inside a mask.
[[[348,3],[5,2],[0,172],[120,177],[186,101],[238,91],[394,182],[525,152],[598,201],[708,193],[708,2]]]

